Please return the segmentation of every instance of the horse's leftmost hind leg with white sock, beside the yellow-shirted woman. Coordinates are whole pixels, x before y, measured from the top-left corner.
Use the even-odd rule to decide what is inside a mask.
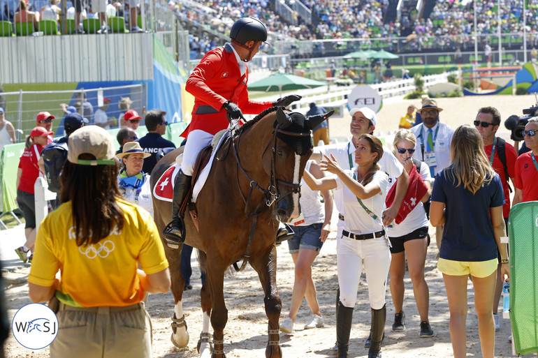
[[[165,244],[166,245],[166,244]],[[189,344],[189,333],[187,333],[187,322],[183,315],[182,296],[185,280],[181,274],[181,249],[168,248],[165,246],[166,258],[170,265],[170,279],[172,281],[172,294],[174,295],[174,317],[172,318],[172,336],[170,341],[177,348],[185,348]]]

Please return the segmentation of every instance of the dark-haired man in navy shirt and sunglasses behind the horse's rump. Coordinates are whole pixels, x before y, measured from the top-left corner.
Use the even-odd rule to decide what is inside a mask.
[[[166,116],[166,112],[161,110],[147,112],[145,117],[147,135],[137,140],[144,152],[151,154],[151,156],[145,158],[144,166],[142,167],[142,171],[148,174],[152,172],[153,167],[157,164],[157,152],[159,149],[175,148],[173,142],[163,138],[164,133],[166,133],[166,126],[168,126],[164,116]]]

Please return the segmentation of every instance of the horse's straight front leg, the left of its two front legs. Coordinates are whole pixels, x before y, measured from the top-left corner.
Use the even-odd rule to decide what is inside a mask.
[[[228,322],[228,309],[224,302],[224,271],[226,271],[227,266],[219,258],[208,258],[207,267],[206,280],[209,282],[212,301],[213,352],[211,357],[226,358],[224,355],[224,327]]]

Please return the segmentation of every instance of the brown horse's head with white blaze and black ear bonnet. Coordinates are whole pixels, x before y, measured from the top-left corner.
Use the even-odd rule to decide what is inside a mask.
[[[273,210],[282,223],[300,214],[300,179],[312,154],[310,133],[333,113],[305,117],[298,112],[285,113],[282,108],[277,110],[275,140],[271,153],[266,152],[272,158],[264,156],[263,168],[271,177],[270,191],[277,193]]]

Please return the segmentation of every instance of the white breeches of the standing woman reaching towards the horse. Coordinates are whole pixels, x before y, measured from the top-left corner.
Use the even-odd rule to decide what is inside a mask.
[[[340,237],[337,246],[338,285],[340,301],[346,307],[354,307],[357,299],[358,281],[362,268],[366,273],[370,307],[375,310],[385,304],[386,278],[391,266],[391,251],[384,237],[355,240]]]

